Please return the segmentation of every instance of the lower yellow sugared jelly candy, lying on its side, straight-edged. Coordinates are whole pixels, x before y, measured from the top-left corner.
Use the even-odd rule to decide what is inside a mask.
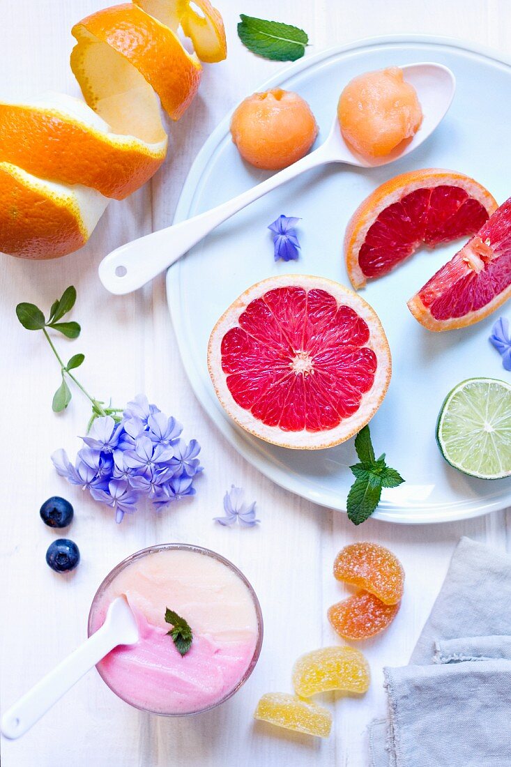
[[[257,704],[255,719],[328,738],[331,729],[331,713],[323,706],[308,703],[289,693],[266,693]]]

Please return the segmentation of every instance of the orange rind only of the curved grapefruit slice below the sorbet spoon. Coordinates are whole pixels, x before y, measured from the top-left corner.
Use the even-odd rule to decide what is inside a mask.
[[[425,168],[423,170],[411,170],[401,173],[399,176],[378,186],[355,210],[348,222],[345,233],[345,261],[351,285],[358,290],[367,284],[366,276],[358,263],[358,254],[366,239],[371,225],[388,206],[399,202],[403,197],[417,191],[417,189],[434,189],[436,186],[459,186],[473,199],[486,208],[491,216],[498,205],[496,199],[470,176],[457,173],[453,170],[441,168]]]

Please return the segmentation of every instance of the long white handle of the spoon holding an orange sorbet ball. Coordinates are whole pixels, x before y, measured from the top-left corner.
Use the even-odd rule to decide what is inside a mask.
[[[200,213],[199,216],[193,216],[192,219],[186,219],[179,224],[121,245],[107,255],[99,265],[101,282],[110,293],[116,295],[124,295],[141,288],[230,216],[277,186],[304,173],[305,170],[333,160],[334,158],[328,152],[327,140],[317,150],[302,157],[302,160],[252,186],[239,196],[223,202],[222,205]]]

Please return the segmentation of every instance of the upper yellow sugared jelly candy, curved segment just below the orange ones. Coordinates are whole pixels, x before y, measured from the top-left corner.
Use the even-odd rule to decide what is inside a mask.
[[[323,647],[299,657],[293,667],[295,693],[308,698],[328,690],[365,693],[371,676],[368,662],[354,647]]]

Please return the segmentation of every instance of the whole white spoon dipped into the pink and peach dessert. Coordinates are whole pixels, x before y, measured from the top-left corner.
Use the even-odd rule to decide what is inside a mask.
[[[2,735],[11,740],[24,735],[110,650],[118,644],[135,644],[138,638],[137,621],[127,601],[124,597],[114,599],[103,626],[5,712],[0,723]]]

